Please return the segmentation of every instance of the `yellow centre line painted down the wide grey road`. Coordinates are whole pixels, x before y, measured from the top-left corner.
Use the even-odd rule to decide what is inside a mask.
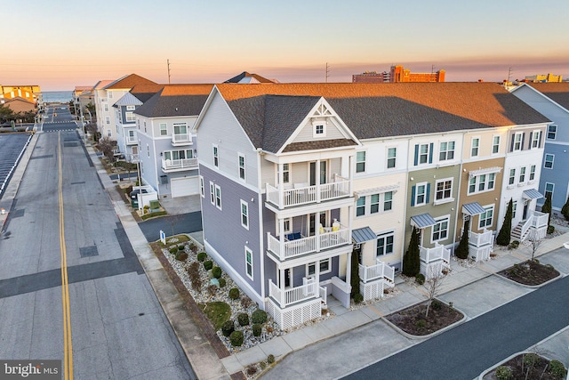
[[[69,312],[68,260],[65,249],[65,222],[63,220],[63,164],[61,161],[60,132],[58,132],[58,174],[58,192],[60,196],[61,303],[63,307],[63,373],[65,380],[73,380],[73,347],[71,344],[71,315]]]

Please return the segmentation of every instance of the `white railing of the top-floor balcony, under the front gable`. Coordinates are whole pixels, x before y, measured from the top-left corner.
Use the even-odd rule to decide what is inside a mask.
[[[266,190],[268,202],[284,208],[347,197],[349,196],[349,180],[338,177],[337,182],[297,186],[294,189],[276,188],[267,183]]]

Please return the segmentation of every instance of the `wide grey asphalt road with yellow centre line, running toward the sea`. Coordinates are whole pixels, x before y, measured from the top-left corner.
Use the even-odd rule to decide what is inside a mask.
[[[67,351],[76,378],[195,378],[78,134],[63,121],[37,136],[0,239],[0,358],[63,360]]]

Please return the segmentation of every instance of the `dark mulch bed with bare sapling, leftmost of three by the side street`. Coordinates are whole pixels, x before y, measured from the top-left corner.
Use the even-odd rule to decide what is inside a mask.
[[[426,336],[464,318],[461,311],[437,300],[434,300],[430,306],[429,317],[425,317],[426,310],[427,303],[421,303],[389,314],[386,319],[407,334]]]

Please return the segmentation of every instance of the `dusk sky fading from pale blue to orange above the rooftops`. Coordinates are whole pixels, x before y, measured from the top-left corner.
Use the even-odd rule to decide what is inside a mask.
[[[446,81],[569,78],[566,0],[52,0],[0,5],[1,85],[73,90],[138,74],[218,83],[446,70]]]

